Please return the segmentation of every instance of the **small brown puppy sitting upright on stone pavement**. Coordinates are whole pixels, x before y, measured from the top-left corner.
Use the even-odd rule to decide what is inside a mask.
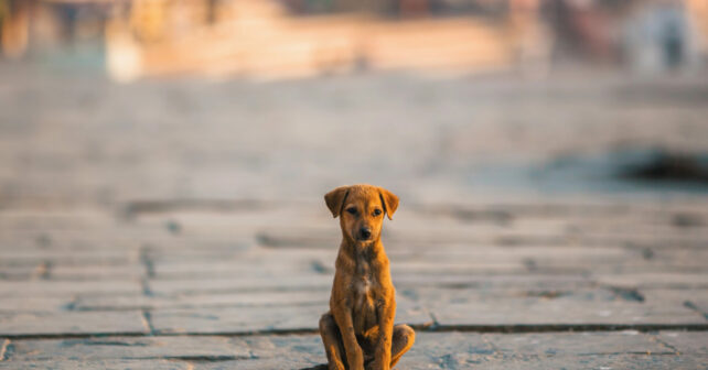
[[[394,326],[396,291],[380,241],[384,214],[390,219],[398,197],[371,185],[342,186],[324,196],[340,216],[342,244],[330,298],[320,319],[330,369],[390,369],[412,346],[416,334]]]

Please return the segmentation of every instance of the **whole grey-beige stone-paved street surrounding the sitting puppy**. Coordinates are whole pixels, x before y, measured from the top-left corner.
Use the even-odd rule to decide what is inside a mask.
[[[358,182],[401,199],[397,368],[708,368],[705,183],[534,172],[706,152],[705,77],[0,81],[2,369],[323,364],[322,195]]]

